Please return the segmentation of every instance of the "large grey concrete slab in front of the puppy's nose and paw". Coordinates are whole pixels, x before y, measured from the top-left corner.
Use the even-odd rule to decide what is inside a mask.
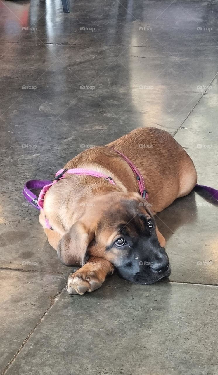
[[[218,287],[111,279],[62,293],[7,374],[217,373]]]

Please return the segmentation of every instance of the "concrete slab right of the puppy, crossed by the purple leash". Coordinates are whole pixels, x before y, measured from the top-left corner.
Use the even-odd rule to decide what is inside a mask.
[[[175,135],[196,166],[198,183],[218,186],[217,78]],[[199,193],[202,193],[201,191]],[[205,199],[206,198],[206,199]],[[171,280],[218,284],[218,204],[205,194],[190,193],[159,213],[168,239]]]

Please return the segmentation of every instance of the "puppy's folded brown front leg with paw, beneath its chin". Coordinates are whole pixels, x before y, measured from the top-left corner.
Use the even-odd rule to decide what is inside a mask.
[[[68,278],[69,294],[84,294],[101,287],[108,274],[113,273],[113,265],[99,257],[89,257],[87,263]]]

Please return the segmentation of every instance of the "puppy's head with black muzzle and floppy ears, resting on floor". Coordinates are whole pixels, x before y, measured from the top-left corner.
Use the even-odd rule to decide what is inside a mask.
[[[136,284],[152,284],[170,275],[165,239],[139,194],[111,193],[85,205],[81,219],[59,241],[62,263],[80,266],[89,255],[101,257]]]

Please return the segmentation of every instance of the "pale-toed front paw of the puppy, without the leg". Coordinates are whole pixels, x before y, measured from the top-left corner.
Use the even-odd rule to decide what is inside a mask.
[[[101,287],[102,280],[96,271],[87,271],[79,269],[68,278],[67,291],[69,294],[80,294],[93,292]]]

